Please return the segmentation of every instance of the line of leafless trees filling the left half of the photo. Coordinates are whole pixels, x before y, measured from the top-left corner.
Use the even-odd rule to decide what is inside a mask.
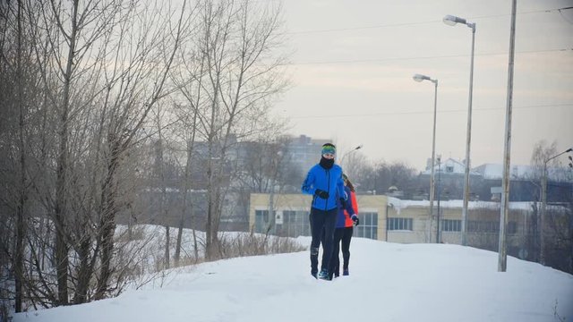
[[[19,312],[120,292],[117,216],[150,185],[167,211],[170,164],[187,198],[201,163],[217,258],[232,147],[281,129],[269,107],[286,89],[283,43],[274,3],[0,2],[3,299]]]

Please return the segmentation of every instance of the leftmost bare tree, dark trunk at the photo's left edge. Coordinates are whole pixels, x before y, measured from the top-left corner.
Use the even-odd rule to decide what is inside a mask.
[[[30,47],[33,39],[27,27],[25,8],[21,1],[15,4],[0,4],[0,39],[2,51],[0,55],[0,104],[2,107],[2,121],[0,134],[3,138],[3,156],[8,156],[10,163],[2,164],[0,178],[4,184],[12,184],[13,191],[2,191],[1,202],[10,208],[13,213],[12,228],[3,227],[6,235],[13,237],[13,245],[3,242],[3,255],[8,255],[13,262],[13,275],[15,284],[14,309],[22,309],[22,296],[24,294],[24,242],[28,228],[30,174],[28,166],[28,150],[30,136],[30,122],[33,119],[34,95],[26,96],[25,92],[35,93],[34,79],[37,67],[30,64]],[[3,218],[4,219],[4,218]],[[6,218],[7,219],[7,218]],[[3,223],[10,221],[3,220]],[[5,230],[4,230],[5,229]],[[7,233],[11,231],[13,233]],[[4,256],[0,256],[4,258]],[[5,268],[5,267],[3,267]]]

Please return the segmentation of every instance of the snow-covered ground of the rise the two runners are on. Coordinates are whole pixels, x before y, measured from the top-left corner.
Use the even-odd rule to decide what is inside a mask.
[[[310,243],[301,237],[299,242]],[[184,267],[115,299],[14,321],[572,321],[573,275],[447,244],[355,238],[350,276],[310,275],[308,251]]]

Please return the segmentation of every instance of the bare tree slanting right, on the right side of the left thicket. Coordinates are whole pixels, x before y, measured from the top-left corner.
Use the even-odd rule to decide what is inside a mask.
[[[137,142],[137,135],[147,120],[147,116],[158,100],[165,95],[164,85],[174,62],[177,47],[181,41],[182,30],[188,20],[184,20],[184,8],[181,9],[177,23],[172,26],[168,19],[161,17],[158,7],[147,12],[150,21],[137,26],[140,44],[138,55],[129,61],[128,67],[116,65],[122,69],[120,91],[115,95],[115,105],[111,106],[111,122],[107,130],[107,174],[102,186],[102,208],[98,242],[101,245],[101,269],[98,279],[96,299],[101,299],[107,292],[111,276],[115,231],[116,171],[121,164],[122,155]],[[161,20],[156,20],[161,19]],[[134,30],[135,31],[135,30]],[[166,34],[167,32],[167,34]],[[126,35],[127,36],[127,35]],[[170,40],[166,42],[166,40]],[[146,79],[150,77],[150,79]],[[152,83],[149,80],[153,80]],[[141,90],[149,94],[134,97]]]

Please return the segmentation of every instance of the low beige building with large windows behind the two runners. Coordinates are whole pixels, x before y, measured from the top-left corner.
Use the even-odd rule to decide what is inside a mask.
[[[357,195],[360,225],[355,236],[386,242],[437,242],[437,217],[429,218],[429,201],[402,200],[383,195]],[[312,197],[303,194],[252,194],[249,225],[255,233],[281,236],[309,236],[309,212]],[[437,204],[434,203],[434,214]],[[274,216],[269,216],[269,208]],[[519,252],[525,248],[532,230],[532,207],[529,202],[511,202],[508,248]],[[462,200],[440,203],[440,242],[461,243]],[[467,241],[471,246],[497,250],[500,230],[498,202],[470,201],[467,216]]]

